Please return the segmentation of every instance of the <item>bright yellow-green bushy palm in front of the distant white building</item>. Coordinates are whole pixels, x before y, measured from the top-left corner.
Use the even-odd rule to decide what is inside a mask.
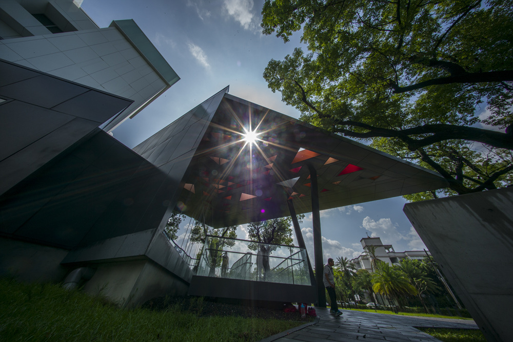
[[[406,274],[397,267],[380,263],[372,275],[372,289],[379,294],[385,294],[396,300],[399,306],[399,298],[401,295],[417,294],[417,290],[413,287]]]

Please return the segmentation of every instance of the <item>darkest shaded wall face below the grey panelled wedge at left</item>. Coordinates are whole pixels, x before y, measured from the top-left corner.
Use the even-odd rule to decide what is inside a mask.
[[[13,238],[64,248],[154,229],[167,208],[153,199],[167,181],[98,129],[0,197],[0,229]],[[160,218],[143,221],[149,212]]]

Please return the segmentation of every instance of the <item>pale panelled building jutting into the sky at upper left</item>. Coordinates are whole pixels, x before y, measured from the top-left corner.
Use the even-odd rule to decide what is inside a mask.
[[[0,58],[134,102],[132,118],[180,79],[132,19],[100,28],[72,0],[0,0]]]

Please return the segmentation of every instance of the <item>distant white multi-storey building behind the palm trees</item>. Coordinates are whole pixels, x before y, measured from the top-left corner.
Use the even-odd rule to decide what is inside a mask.
[[[362,243],[362,247],[365,250],[366,246],[376,246],[376,257],[389,264],[389,265],[396,265],[399,264],[399,261],[401,259],[418,259],[423,260],[427,255],[431,255],[429,251],[423,251],[423,250],[407,250],[404,252],[396,252],[392,245],[384,245],[381,242],[380,238],[363,238],[360,240]],[[367,253],[364,252],[360,254],[358,258],[354,258],[350,261],[350,263],[353,264],[354,268],[357,270],[359,269],[366,269],[369,272],[372,272],[370,267],[370,258],[368,257]]]

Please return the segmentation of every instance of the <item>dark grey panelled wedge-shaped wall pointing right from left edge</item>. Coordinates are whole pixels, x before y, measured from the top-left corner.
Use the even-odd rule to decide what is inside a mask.
[[[0,194],[133,102],[4,60],[0,75]]]

